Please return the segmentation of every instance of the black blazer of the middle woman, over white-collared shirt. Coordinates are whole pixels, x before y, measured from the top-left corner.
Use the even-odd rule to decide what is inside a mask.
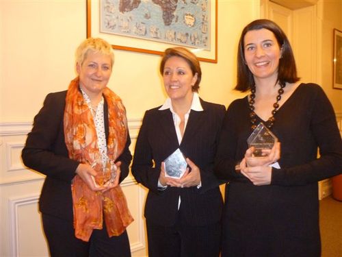
[[[213,162],[225,108],[202,99],[200,103],[204,110],[190,111],[181,145],[169,109],[154,108],[144,115],[135,145],[132,173],[137,182],[149,189],[145,205],[148,223],[174,225],[177,215],[181,215],[181,221],[188,225],[207,225],[221,218],[223,201],[218,187],[220,181],[213,175]],[[199,167],[201,188],[168,186],[164,191],[158,190],[161,162],[177,148]]]

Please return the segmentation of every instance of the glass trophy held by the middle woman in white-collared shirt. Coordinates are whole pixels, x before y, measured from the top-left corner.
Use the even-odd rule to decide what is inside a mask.
[[[165,176],[170,178],[181,178],[187,169],[187,161],[178,148],[164,160]]]

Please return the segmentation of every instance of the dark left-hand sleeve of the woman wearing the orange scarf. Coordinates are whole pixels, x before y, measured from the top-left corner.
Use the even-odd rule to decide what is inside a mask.
[[[34,126],[22,151],[24,164],[57,180],[71,182],[79,162],[68,158],[63,117],[66,91],[51,93],[34,118]]]

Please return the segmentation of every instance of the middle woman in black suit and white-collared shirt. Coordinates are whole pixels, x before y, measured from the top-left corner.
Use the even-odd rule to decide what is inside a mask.
[[[148,188],[148,256],[219,256],[223,201],[213,162],[225,108],[198,96],[202,72],[191,51],[166,49],[160,73],[168,99],[146,111],[132,165]],[[178,149],[185,173],[170,178],[164,161]]]

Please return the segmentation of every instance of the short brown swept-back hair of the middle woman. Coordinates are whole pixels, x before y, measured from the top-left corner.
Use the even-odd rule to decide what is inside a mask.
[[[198,92],[198,89],[200,88],[200,79],[202,77],[202,71],[200,70],[200,62],[198,61],[195,54],[192,53],[192,51],[189,51],[184,47],[172,47],[164,51],[163,58],[161,58],[159,66],[160,74],[163,75],[166,61],[173,56],[183,58],[187,62],[187,64],[189,64],[190,69],[192,70],[192,75],[195,75],[197,73],[197,80],[194,86],[192,86],[192,91]]]

